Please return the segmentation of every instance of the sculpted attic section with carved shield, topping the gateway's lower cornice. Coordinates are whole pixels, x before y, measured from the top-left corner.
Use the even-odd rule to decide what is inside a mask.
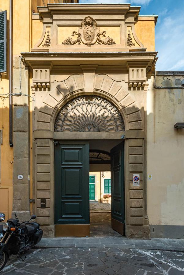
[[[32,17],[35,41],[32,51],[146,51],[137,36],[144,37],[142,23],[137,25],[139,20],[144,20],[139,18],[139,10],[130,4],[48,4],[38,7],[39,14]],[[149,34],[145,32],[145,35],[148,40]]]

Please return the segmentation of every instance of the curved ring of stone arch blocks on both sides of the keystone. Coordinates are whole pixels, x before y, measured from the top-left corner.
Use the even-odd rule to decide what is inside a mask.
[[[84,76],[72,75],[62,82],[54,81],[52,91],[43,100],[36,118],[36,130],[54,130],[58,112],[72,99],[84,96]],[[125,130],[142,130],[141,112],[128,91],[106,75],[96,75],[93,95],[111,102],[120,112]]]

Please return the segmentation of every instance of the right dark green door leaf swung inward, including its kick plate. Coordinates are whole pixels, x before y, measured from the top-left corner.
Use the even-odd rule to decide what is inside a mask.
[[[111,149],[111,221],[112,228],[124,235],[124,142]]]

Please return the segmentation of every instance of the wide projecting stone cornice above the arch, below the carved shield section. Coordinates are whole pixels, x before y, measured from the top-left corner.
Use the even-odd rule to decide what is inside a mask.
[[[146,70],[152,68],[157,52],[72,52],[72,53],[45,53],[45,52],[29,52],[21,53],[25,63],[31,68],[35,67],[35,64],[44,66],[44,63],[51,62],[53,66],[63,65],[81,65],[81,64],[98,64],[98,65],[127,65],[127,62],[135,62],[136,67],[141,64]],[[137,63],[138,62],[138,63]]]

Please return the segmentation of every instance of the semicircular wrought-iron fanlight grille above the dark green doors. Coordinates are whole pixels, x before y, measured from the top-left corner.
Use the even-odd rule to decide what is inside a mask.
[[[56,132],[118,132],[125,126],[117,108],[102,97],[82,96],[69,101],[55,120]]]

